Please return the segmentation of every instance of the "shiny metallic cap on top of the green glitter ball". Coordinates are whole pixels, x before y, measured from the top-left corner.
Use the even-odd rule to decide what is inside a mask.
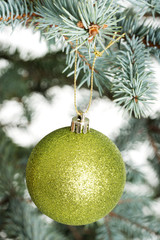
[[[89,119],[84,116],[84,113],[72,118],[71,132],[84,134],[89,132]]]

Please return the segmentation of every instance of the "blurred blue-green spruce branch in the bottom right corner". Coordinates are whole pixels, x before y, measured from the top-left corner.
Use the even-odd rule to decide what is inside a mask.
[[[148,209],[144,213],[143,209]],[[133,215],[134,212],[134,215]],[[117,207],[105,216],[104,221],[99,222],[96,229],[97,240],[102,239],[159,239],[159,219],[152,217],[151,224],[151,200],[146,196],[138,197],[135,194],[125,192]],[[157,221],[157,222],[156,222]]]

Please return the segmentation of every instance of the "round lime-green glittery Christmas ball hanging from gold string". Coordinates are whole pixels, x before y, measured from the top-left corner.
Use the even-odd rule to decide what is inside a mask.
[[[108,214],[125,184],[125,166],[116,145],[90,129],[70,127],[45,136],[33,149],[26,183],[40,211],[57,222],[85,225]]]

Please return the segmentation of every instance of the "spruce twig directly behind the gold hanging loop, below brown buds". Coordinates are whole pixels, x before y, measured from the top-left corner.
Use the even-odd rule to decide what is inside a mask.
[[[75,64],[75,53],[71,52],[71,49],[75,48],[75,44],[72,43],[72,45],[68,45],[66,47],[66,63],[67,67],[64,69],[63,72],[66,70],[74,67]],[[102,50],[102,49],[101,49]],[[81,72],[83,72],[83,77],[78,80],[78,87],[80,88],[83,84],[87,84],[87,86],[90,86],[90,80],[91,80],[91,69],[94,59],[94,53],[93,51],[91,54],[88,54],[88,51],[85,47],[81,47],[78,49],[78,61],[77,61],[77,71],[76,71],[76,77],[78,79],[78,76]],[[111,59],[110,59],[111,61]],[[102,64],[103,62],[103,64]],[[104,73],[104,68],[109,66],[108,61],[105,58],[105,53],[101,58],[96,59],[95,68],[94,68],[94,86],[98,88],[100,95],[104,93],[104,89],[110,90],[111,88],[111,81],[109,79],[109,75]],[[74,75],[74,69],[72,72],[68,74],[68,76]]]

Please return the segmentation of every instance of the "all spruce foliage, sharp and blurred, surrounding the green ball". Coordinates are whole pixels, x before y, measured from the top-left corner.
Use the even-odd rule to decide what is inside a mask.
[[[8,25],[13,30],[23,25],[40,31],[50,46],[62,43],[62,51],[28,60],[18,50],[0,46],[0,60],[8,63],[0,69],[0,110],[10,100],[23,108],[22,122],[0,122],[0,239],[160,239],[160,213],[155,210],[160,200],[160,112],[150,115],[157,91],[151,62],[153,58],[160,61],[160,25],[146,21],[160,17],[160,1],[125,2],[130,5],[119,1],[117,6],[111,0],[0,1],[1,31]],[[31,149],[13,143],[6,130],[26,128],[32,122],[33,110],[26,101],[31,94],[38,92],[49,101],[48,89],[73,84],[76,39],[78,84],[88,88],[94,46],[102,51],[113,36],[123,33],[123,39],[97,58],[94,89],[130,113],[128,124],[114,139],[126,162],[125,192],[116,208],[96,223],[74,227],[48,221],[26,191],[25,167]],[[146,162],[154,183],[129,154],[144,142],[152,153]]]

